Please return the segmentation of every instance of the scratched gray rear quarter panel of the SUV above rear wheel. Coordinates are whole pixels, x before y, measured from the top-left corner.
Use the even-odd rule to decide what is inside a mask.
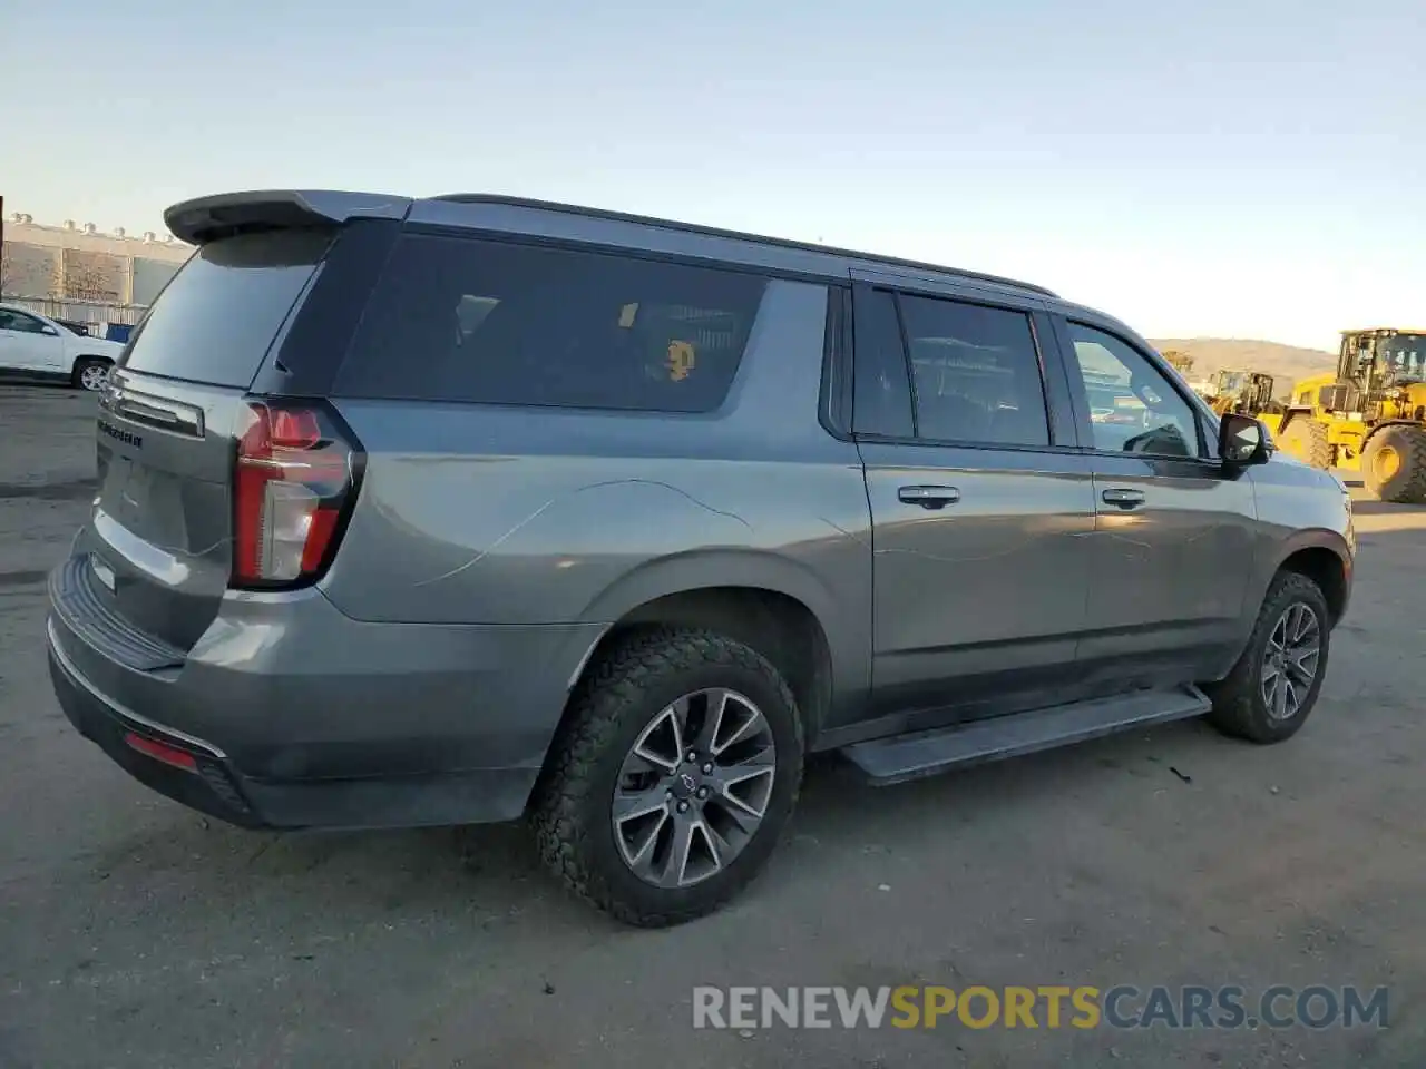
[[[358,620],[609,624],[764,587],[864,684],[870,512],[856,446],[817,419],[826,312],[826,286],[771,282],[706,416],[339,399],[368,460],[324,593]]]

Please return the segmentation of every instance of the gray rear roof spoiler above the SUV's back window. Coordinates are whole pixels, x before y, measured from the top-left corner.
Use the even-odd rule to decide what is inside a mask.
[[[190,245],[261,229],[289,229],[349,220],[401,220],[409,197],[335,190],[260,190],[198,197],[164,212],[174,237]]]

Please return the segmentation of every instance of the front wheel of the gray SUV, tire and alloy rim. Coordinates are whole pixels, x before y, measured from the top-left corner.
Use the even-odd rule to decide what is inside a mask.
[[[1222,683],[1204,688],[1214,701],[1214,725],[1253,743],[1295,735],[1322,690],[1330,619],[1316,583],[1279,572],[1238,664]]]

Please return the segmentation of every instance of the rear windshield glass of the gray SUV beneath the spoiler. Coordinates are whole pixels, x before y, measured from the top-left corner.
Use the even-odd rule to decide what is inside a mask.
[[[144,318],[124,366],[247,388],[331,239],[288,229],[204,245]]]

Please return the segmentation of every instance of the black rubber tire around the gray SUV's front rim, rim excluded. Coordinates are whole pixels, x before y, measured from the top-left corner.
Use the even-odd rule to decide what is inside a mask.
[[[1263,700],[1263,666],[1268,640],[1273,629],[1283,619],[1283,614],[1296,604],[1306,606],[1316,616],[1320,631],[1320,653],[1318,654],[1316,674],[1296,713],[1279,718],[1272,716]],[[1226,735],[1246,738],[1252,743],[1281,743],[1295,735],[1312,713],[1322,690],[1332,636],[1330,619],[1326,597],[1322,596],[1316,583],[1296,572],[1279,572],[1272,580],[1272,586],[1268,587],[1268,596],[1258,611],[1258,623],[1253,626],[1252,636],[1233,670],[1221,683],[1204,687],[1214,701],[1214,710],[1208,714],[1212,724]]]

